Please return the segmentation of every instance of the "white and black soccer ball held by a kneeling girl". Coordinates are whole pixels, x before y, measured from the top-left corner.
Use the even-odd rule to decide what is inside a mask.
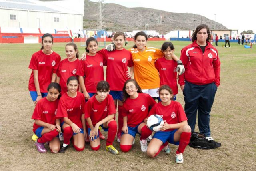
[[[151,115],[148,117],[147,126],[152,131],[158,132],[164,124],[164,120],[160,115]]]

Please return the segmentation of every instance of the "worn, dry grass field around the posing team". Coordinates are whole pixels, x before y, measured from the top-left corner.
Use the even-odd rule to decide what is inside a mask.
[[[148,46],[160,48],[162,43],[148,42]],[[172,43],[180,56],[180,50],[191,42]],[[53,45],[62,59],[66,58],[65,44]],[[130,152],[117,156],[105,150],[106,141],[101,141],[100,151],[86,144],[82,152],[70,147],[64,154],[39,153],[31,139],[34,104],[28,92],[28,65],[40,44],[0,44],[0,170],[255,170],[256,46],[245,49],[231,43],[231,48],[222,48],[222,44],[217,48],[220,87],[210,121],[212,137],[222,146],[214,150],[187,147],[183,165],[174,161],[176,146],[171,145],[169,156],[160,153],[151,159],[140,151],[138,137]],[[126,47],[132,45],[129,42]],[[84,47],[79,48],[84,52]],[[177,101],[184,106],[181,91]],[[120,150],[116,141],[114,146]]]

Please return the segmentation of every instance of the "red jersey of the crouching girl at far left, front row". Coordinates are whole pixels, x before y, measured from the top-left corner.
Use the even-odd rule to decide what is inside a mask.
[[[32,119],[40,120],[45,123],[50,123],[52,125],[55,125],[58,102],[59,102],[58,99],[51,102],[51,101],[48,101],[46,97],[42,98],[36,104],[34,113],[32,115]],[[39,127],[41,126],[36,125],[36,123],[34,123],[33,132],[36,132],[36,129],[38,129]]]

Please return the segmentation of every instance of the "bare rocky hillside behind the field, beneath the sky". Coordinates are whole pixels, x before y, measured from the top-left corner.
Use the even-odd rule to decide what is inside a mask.
[[[84,0],[84,29],[97,29],[97,2]],[[162,17],[162,22],[160,18]],[[106,30],[156,30],[166,34],[170,30],[193,30],[199,24],[214,28],[214,21],[191,13],[173,13],[152,8],[127,8],[118,4],[105,3]],[[227,29],[216,22],[216,29]]]

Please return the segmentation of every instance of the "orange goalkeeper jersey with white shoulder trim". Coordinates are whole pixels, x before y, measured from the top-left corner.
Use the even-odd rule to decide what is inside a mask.
[[[154,89],[160,85],[158,71],[155,68],[155,61],[164,56],[162,51],[153,47],[146,47],[143,52],[137,48],[131,48],[134,64],[134,79],[141,89]]]

